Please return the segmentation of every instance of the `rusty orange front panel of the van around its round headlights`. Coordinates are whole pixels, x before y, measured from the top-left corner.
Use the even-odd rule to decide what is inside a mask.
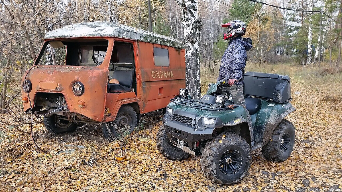
[[[108,69],[83,66],[41,66],[37,65],[27,71],[26,80],[32,84],[29,97],[35,107],[36,94],[63,94],[70,112],[82,114],[92,120],[101,122],[104,119],[107,93]],[[23,76],[22,83],[25,80]],[[77,96],[73,92],[73,84],[80,82],[84,86],[83,94]],[[22,90],[22,97],[27,93]],[[78,102],[84,102],[80,108]],[[30,109],[29,102],[23,103],[24,111]]]

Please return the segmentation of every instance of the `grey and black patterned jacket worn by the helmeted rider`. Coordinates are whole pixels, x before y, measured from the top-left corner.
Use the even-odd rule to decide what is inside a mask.
[[[237,79],[235,85],[242,85],[245,77],[247,51],[253,47],[250,38],[235,37],[229,41],[229,45],[222,56],[219,77],[217,81],[224,78]]]

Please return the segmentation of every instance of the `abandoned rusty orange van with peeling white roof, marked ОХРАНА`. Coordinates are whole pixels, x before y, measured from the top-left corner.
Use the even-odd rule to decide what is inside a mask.
[[[117,125],[102,126],[105,138],[124,126],[132,132],[141,114],[165,108],[185,87],[184,45],[171,37],[90,22],[49,31],[43,40],[23,76],[22,100],[54,134],[101,122]]]

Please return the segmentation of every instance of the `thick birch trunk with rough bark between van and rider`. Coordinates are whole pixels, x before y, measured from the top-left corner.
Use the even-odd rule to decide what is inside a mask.
[[[200,61],[199,61],[199,29],[201,20],[198,19],[197,0],[175,0],[183,12],[182,24],[185,41],[185,79],[189,94],[194,99],[201,97]]]

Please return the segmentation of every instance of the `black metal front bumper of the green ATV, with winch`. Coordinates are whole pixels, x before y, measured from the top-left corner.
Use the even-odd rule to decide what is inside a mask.
[[[170,140],[172,138],[180,139],[188,143],[189,148],[195,149],[196,142],[212,139],[214,128],[207,127],[206,129],[199,129],[187,124],[170,120],[163,116],[164,129]]]

